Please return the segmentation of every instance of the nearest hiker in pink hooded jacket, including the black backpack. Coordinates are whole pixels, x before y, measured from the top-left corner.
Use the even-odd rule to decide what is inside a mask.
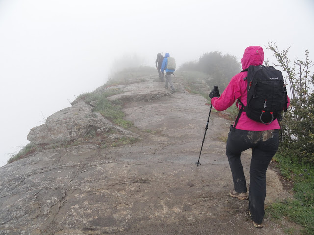
[[[290,103],[287,94],[284,94],[286,88],[283,83],[282,74],[280,71],[278,72],[278,70],[275,71],[276,75],[274,76],[264,76],[262,73],[260,73],[259,77],[254,75],[255,81],[259,81],[258,79],[261,78],[263,80],[259,83],[259,87],[265,88],[266,86],[267,89],[262,94],[260,92],[259,94],[251,95],[251,89],[257,89],[258,87],[255,86],[254,81],[251,81],[253,77],[253,75],[251,75],[253,74],[252,71],[263,70],[265,72],[268,69],[272,71],[275,70],[273,67],[262,66],[263,61],[264,52],[262,47],[247,47],[241,59],[243,71],[236,74],[231,79],[220,97],[218,88],[213,89],[209,94],[211,104],[218,111],[226,110],[238,100],[236,105],[240,109],[240,112],[234,125],[230,127],[226,146],[226,155],[234,183],[234,189],[232,189],[229,194],[240,200],[249,200],[248,213],[256,228],[263,227],[262,222],[265,215],[264,202],[266,197],[266,171],[270,160],[277,152],[279,146],[280,126],[277,118],[274,118],[274,115],[277,115],[278,112],[276,114],[271,112],[271,119],[263,120],[263,118],[266,118],[267,109],[270,109],[273,105],[279,105],[281,106],[280,109],[283,110],[285,107],[287,108]],[[249,83],[248,80],[250,81]],[[270,87],[265,84],[268,84],[268,86],[270,84]],[[272,96],[274,99],[266,100],[264,97],[269,94],[272,95],[271,93],[275,89],[280,89],[281,92]],[[256,99],[264,98],[264,100],[262,100],[262,110],[257,111],[256,116],[258,116],[258,119],[256,120],[251,119],[252,108],[250,108],[250,105],[254,103],[254,101],[250,101],[249,104],[247,102],[247,98],[249,97],[250,100],[253,96]],[[278,117],[280,118],[281,116]],[[249,148],[252,148],[252,158],[250,165],[249,197],[247,197],[241,153]]]

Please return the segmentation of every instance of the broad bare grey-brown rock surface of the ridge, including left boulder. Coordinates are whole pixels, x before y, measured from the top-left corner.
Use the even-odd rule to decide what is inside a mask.
[[[124,86],[123,93],[111,97],[124,100],[125,119],[143,141],[45,149],[0,168],[0,235],[283,234],[267,217],[264,228],[255,229],[248,202],[229,196],[233,185],[224,141],[229,121],[212,110],[202,164],[196,168],[207,100],[183,89],[170,94],[155,78]],[[174,85],[180,88],[178,80]],[[84,134],[66,119],[76,115],[76,108],[86,125],[110,125],[90,117],[86,104],[71,108],[32,129],[29,139],[37,143]],[[248,177],[250,151],[242,160]],[[266,203],[286,194],[268,169]]]

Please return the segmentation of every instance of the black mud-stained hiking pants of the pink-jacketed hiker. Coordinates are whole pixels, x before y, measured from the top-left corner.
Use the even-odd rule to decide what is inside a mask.
[[[279,131],[245,131],[232,129],[228,134],[228,157],[235,191],[246,193],[241,153],[252,148],[250,165],[249,210],[255,223],[262,223],[266,197],[266,171],[279,146]]]

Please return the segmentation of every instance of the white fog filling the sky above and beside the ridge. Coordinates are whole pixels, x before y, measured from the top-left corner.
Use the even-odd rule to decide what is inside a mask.
[[[221,51],[240,61],[260,45],[272,60],[265,47],[276,42],[292,61],[306,49],[314,61],[313,12],[312,0],[0,0],[0,166],[31,128],[103,85],[117,58],[154,66],[169,52],[180,66]]]

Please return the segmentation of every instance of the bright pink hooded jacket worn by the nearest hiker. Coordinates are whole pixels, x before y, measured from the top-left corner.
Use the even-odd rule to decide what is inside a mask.
[[[260,46],[250,46],[244,51],[243,58],[241,59],[242,69],[248,68],[250,65],[262,65],[264,62],[264,51]],[[218,110],[223,111],[229,108],[237,99],[246,106],[247,102],[247,80],[244,78],[247,76],[246,72],[240,72],[236,74],[221,94],[219,98],[214,97],[211,99],[212,106]],[[290,99],[288,97],[288,106]],[[238,105],[238,102],[236,103]],[[240,106],[241,107],[241,106]],[[239,122],[237,123],[236,129],[248,130],[248,131],[266,131],[280,129],[277,119],[269,125],[265,125],[260,122],[253,121],[246,116],[246,112],[242,112]]]

